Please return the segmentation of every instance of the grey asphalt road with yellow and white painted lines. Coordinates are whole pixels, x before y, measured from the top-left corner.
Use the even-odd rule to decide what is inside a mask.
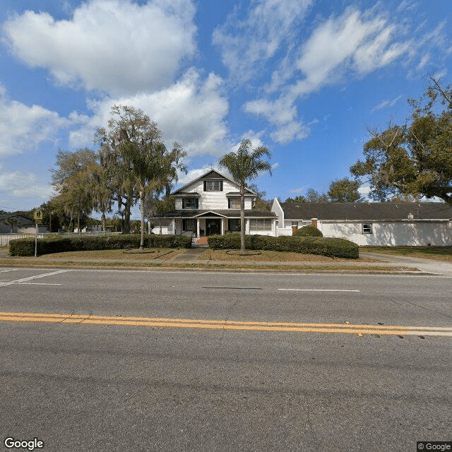
[[[0,451],[451,441],[451,283],[2,268]]]

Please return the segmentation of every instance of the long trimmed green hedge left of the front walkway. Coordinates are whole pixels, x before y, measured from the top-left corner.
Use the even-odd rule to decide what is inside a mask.
[[[37,239],[37,254],[138,248],[140,240],[140,234]],[[191,237],[184,235],[145,235],[144,246],[146,248],[191,248]],[[9,242],[9,254],[11,256],[34,256],[35,239],[30,237],[11,240]]]

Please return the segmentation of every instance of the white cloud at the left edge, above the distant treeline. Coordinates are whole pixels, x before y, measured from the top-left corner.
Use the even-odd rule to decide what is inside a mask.
[[[58,131],[70,124],[70,119],[39,105],[8,100],[0,90],[0,155],[25,153],[44,142],[56,144]]]

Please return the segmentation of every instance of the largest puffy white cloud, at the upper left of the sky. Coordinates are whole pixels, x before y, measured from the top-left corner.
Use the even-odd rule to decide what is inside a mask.
[[[91,0],[71,20],[25,11],[4,24],[11,52],[63,85],[113,95],[171,83],[196,51],[191,0]]]

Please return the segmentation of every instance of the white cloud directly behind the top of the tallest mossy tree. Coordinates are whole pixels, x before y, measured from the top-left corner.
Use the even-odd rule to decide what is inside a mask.
[[[222,95],[222,79],[214,73],[202,79],[190,69],[180,81],[155,93],[138,93],[124,97],[109,97],[93,102],[95,112],[85,118],[85,125],[71,132],[71,145],[79,147],[93,143],[95,129],[105,126],[112,105],[141,108],[157,121],[165,143],[178,141],[192,155],[220,155],[228,144],[225,117],[229,103]]]

